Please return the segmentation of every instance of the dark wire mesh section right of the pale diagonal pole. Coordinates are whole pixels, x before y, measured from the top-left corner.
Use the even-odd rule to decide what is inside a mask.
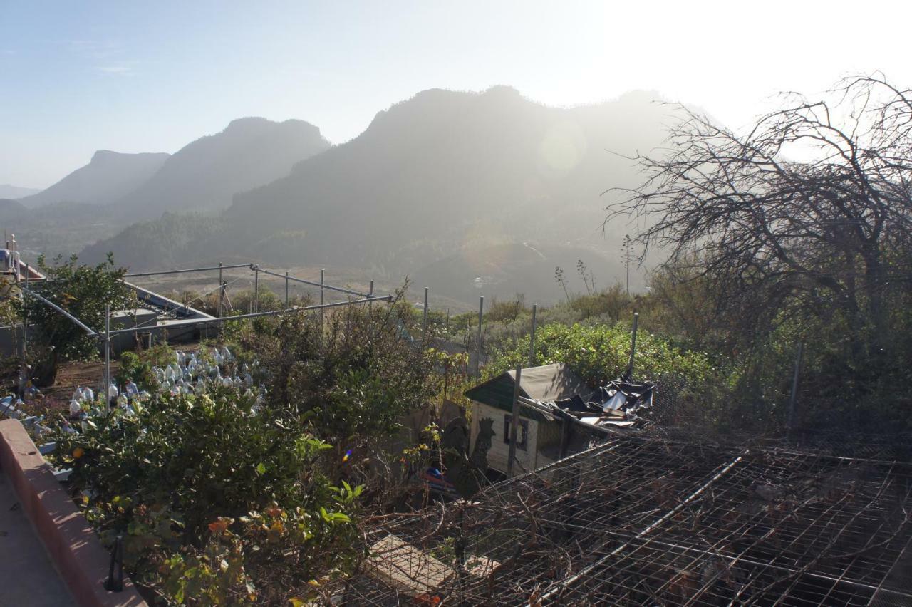
[[[908,497],[908,469],[895,464],[747,454],[548,598],[865,605],[908,543]]]

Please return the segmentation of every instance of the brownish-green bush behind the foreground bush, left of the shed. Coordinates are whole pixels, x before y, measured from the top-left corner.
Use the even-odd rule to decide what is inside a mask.
[[[368,448],[399,431],[401,418],[437,393],[434,360],[398,324],[396,308],[349,306],[292,314],[249,334],[267,373],[272,406],[313,415],[338,448]]]

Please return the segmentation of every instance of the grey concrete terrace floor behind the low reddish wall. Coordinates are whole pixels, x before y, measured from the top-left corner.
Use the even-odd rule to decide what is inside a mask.
[[[77,604],[5,474],[0,474],[0,554],[0,606]]]

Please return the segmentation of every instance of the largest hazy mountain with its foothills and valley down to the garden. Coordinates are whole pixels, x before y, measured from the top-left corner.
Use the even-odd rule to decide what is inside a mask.
[[[543,303],[563,297],[555,265],[572,277],[583,259],[611,283],[629,226],[602,231],[602,192],[639,180],[617,153],[662,141],[668,109],[654,99],[548,108],[508,87],[424,91],[379,112],[358,138],[236,194],[219,233],[185,239],[181,258],[345,265],[390,282],[409,273],[461,298],[480,283],[485,294],[523,291]],[[129,244],[91,252],[129,254]]]

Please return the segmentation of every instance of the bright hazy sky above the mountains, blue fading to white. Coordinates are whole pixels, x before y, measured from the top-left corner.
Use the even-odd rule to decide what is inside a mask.
[[[0,183],[47,187],[96,149],[168,151],[233,118],[340,143],[430,87],[550,105],[634,88],[746,123],[859,70],[912,86],[912,3],[0,0]]]

